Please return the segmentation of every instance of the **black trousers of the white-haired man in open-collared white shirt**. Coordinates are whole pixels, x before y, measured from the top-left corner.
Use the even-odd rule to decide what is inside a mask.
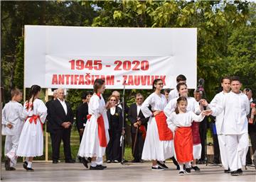
[[[60,158],[60,143],[63,140],[65,161],[72,159],[70,149],[70,133],[71,129],[54,130],[50,133],[50,139],[52,141],[52,159],[58,160]]]

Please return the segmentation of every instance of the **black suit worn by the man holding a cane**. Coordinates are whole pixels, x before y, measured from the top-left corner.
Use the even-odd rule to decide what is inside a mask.
[[[134,147],[135,137],[137,128],[134,127],[134,123],[137,122],[137,117],[141,118],[142,125],[146,126],[146,123],[149,121],[149,118],[145,118],[142,114],[142,110],[139,111],[139,115],[137,114],[137,104],[134,103],[129,108],[128,120],[131,122],[131,132],[132,132],[132,151]],[[142,137],[142,132],[138,132],[137,142],[134,149],[134,161],[140,161],[142,159],[142,150],[144,146],[144,140]]]

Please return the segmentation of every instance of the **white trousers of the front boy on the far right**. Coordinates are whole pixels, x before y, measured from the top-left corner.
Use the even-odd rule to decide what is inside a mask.
[[[228,166],[230,171],[236,171],[245,166],[246,154],[249,146],[248,133],[241,135],[225,135],[227,151],[228,151]]]

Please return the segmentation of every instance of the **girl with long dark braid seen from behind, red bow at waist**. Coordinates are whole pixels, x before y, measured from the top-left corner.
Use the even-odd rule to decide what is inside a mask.
[[[43,155],[43,123],[46,120],[47,108],[39,98],[41,87],[31,86],[30,98],[24,103],[23,115],[26,116],[18,142],[17,156],[26,157],[23,168],[33,171],[33,157]]]

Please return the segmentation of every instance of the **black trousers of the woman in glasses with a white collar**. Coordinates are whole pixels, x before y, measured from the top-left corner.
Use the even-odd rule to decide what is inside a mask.
[[[107,144],[106,156],[110,161],[121,161],[122,147],[120,147],[121,132],[109,132],[110,142]]]

